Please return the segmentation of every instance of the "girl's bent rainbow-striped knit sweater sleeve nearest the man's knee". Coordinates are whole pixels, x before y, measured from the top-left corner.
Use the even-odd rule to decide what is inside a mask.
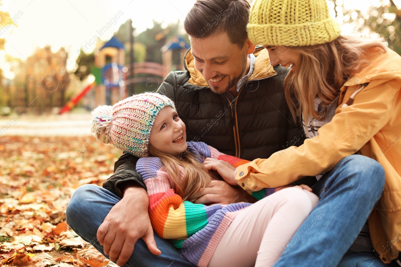
[[[154,164],[145,158],[140,161],[137,168],[148,188],[149,216],[154,231],[164,239],[186,239],[203,229],[207,225],[207,206],[183,202],[174,192],[173,181],[164,166],[153,168]]]

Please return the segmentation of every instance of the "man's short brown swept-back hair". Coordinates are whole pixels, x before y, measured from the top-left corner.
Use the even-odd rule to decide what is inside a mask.
[[[250,8],[247,0],[197,0],[186,14],[184,29],[195,39],[227,32],[230,41],[242,48],[248,37]]]

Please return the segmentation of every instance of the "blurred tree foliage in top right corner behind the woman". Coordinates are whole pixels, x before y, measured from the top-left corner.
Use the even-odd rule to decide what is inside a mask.
[[[380,6],[370,6],[363,14],[360,10],[343,10],[344,23],[352,22],[359,28],[367,27],[384,37],[389,48],[401,54],[401,10],[393,0],[380,0]]]

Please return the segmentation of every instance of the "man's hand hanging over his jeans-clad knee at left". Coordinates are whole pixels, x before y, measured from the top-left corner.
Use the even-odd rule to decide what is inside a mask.
[[[138,239],[142,238],[154,255],[162,252],[157,248],[150,223],[148,194],[142,187],[128,187],[123,198],[109,211],[97,229],[97,240],[105,255],[117,265],[130,259]]]

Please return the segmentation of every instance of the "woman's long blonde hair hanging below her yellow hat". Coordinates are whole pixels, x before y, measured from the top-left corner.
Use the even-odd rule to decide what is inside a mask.
[[[300,66],[296,72],[288,72],[284,79],[284,92],[294,120],[304,121],[309,116],[317,120],[324,119],[324,112],[316,112],[314,99],[322,98],[323,105],[336,99],[344,84],[344,77],[359,72],[369,64],[365,53],[371,48],[386,51],[381,40],[367,40],[340,35],[332,42],[313,46],[292,46],[290,49],[301,53]],[[294,96],[298,101],[294,101]]]

